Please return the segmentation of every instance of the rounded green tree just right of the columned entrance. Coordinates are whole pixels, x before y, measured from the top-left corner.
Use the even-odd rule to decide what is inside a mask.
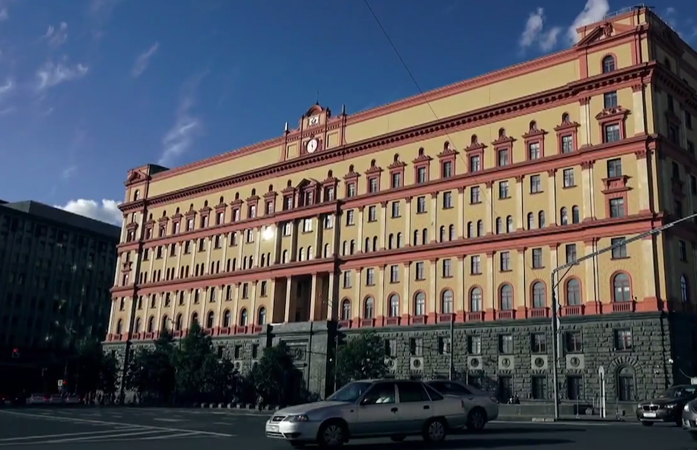
[[[382,378],[387,372],[385,340],[374,331],[360,333],[339,346],[335,369],[338,386],[355,380]]]

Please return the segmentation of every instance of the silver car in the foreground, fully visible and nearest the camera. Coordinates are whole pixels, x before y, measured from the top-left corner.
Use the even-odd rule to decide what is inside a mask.
[[[284,439],[299,448],[317,443],[341,447],[349,439],[391,437],[401,442],[422,435],[441,442],[450,430],[466,425],[461,398],[438,393],[411,380],[351,382],[327,400],[287,407],[266,422],[266,437]]]

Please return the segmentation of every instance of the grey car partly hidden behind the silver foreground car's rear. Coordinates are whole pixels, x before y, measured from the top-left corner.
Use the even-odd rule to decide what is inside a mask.
[[[467,429],[470,431],[481,431],[487,422],[498,417],[498,400],[487,392],[459,381],[431,380],[426,384],[440,393],[458,396],[465,402],[468,410]]]

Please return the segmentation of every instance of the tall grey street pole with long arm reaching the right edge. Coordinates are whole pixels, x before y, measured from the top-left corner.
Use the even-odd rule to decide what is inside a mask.
[[[611,252],[612,250],[615,250],[615,248],[620,248],[622,246],[626,246],[630,242],[638,241],[640,239],[644,239],[645,237],[653,236],[654,234],[659,234],[661,232],[664,232],[665,230],[668,230],[668,228],[672,228],[678,223],[686,222],[687,220],[692,220],[697,217],[697,213],[690,214],[689,216],[685,216],[683,218],[673,220],[671,223],[666,223],[666,225],[661,225],[658,228],[654,228],[653,230],[650,230],[645,233],[637,234],[635,237],[632,237],[630,239],[622,239],[622,241],[615,243],[613,246],[601,248],[600,250],[597,250],[593,253],[590,253],[588,255],[585,255],[584,257],[579,258],[578,260],[572,261],[572,262],[567,262],[567,264],[562,264],[561,266],[556,267],[556,269],[552,270],[551,273],[551,283],[552,283],[552,380],[554,382],[554,418],[559,419],[559,343],[560,343],[560,329],[559,329],[559,310],[561,308],[561,304],[559,303],[557,299],[557,287],[559,285],[559,272],[564,270],[564,269],[571,269],[574,266],[577,266],[581,264],[581,262],[584,262],[586,260],[590,260],[591,258],[595,258],[598,255],[602,255],[603,253]],[[649,264],[650,262],[646,262]],[[564,274],[565,275],[565,274]],[[563,278],[563,276],[562,276]]]

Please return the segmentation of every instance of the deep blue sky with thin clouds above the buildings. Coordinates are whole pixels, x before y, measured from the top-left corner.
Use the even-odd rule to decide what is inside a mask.
[[[422,89],[562,50],[630,3],[370,0]],[[697,3],[657,10],[696,43]],[[497,24],[500,23],[500,24]],[[0,0],[0,199],[118,220],[127,171],[418,93],[362,0]]]

